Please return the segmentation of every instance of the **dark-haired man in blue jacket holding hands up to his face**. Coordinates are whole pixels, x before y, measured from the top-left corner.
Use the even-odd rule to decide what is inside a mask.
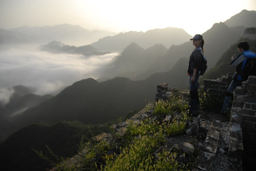
[[[249,50],[249,44],[246,41],[242,41],[237,45],[237,49],[240,52],[239,55],[233,55],[231,57],[230,66],[235,66],[235,74],[233,75],[232,82],[227,88],[226,97],[222,105],[221,113],[228,113],[228,108],[231,107],[234,95],[233,92],[237,86],[241,86],[243,81],[246,81],[240,75],[241,68],[246,63],[247,58],[256,57],[256,54]]]

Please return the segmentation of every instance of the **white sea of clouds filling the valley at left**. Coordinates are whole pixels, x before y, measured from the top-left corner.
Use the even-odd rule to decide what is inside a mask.
[[[118,53],[85,57],[79,54],[51,54],[33,48],[0,49],[0,102],[6,104],[12,86],[34,87],[35,94],[56,95],[63,88],[86,78],[97,78]]]

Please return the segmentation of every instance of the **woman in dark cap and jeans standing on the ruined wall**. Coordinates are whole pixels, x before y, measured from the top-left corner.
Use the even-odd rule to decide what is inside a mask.
[[[187,75],[189,75],[189,90],[190,90],[190,102],[189,102],[189,115],[194,116],[196,110],[199,108],[199,96],[198,96],[198,79],[200,75],[199,66],[201,65],[202,57],[204,57],[204,44],[205,41],[202,35],[195,35],[193,45],[195,49],[189,57]]]

